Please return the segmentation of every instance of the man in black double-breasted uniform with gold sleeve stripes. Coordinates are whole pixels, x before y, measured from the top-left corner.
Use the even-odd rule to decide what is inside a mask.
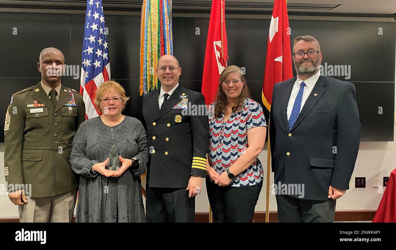
[[[150,147],[147,222],[194,222],[195,196],[206,175],[209,124],[207,114],[186,111],[201,110],[205,98],[179,85],[181,67],[172,55],[158,60],[156,73],[161,88],[145,95],[142,104]]]

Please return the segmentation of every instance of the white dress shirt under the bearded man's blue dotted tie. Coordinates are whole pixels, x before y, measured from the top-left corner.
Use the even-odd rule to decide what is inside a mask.
[[[289,104],[287,104],[287,120],[290,117],[291,110],[293,110],[294,101],[297,97],[298,91],[300,90],[301,83],[302,82],[305,83],[305,88],[304,88],[304,93],[303,93],[303,101],[301,102],[300,112],[303,109],[305,101],[308,99],[310,93],[312,92],[312,89],[314,88],[316,81],[318,81],[319,76],[320,76],[320,70],[318,70],[318,72],[316,74],[314,74],[313,76],[311,76],[310,78],[308,78],[305,81],[301,80],[297,76],[297,80],[295,81],[295,83],[293,85],[293,89],[291,89]]]

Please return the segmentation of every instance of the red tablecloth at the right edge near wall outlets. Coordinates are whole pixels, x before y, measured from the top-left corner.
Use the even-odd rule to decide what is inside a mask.
[[[396,169],[390,173],[373,222],[396,222]]]

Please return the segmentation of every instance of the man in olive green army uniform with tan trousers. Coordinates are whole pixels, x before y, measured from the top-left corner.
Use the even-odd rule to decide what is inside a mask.
[[[64,66],[59,49],[43,49],[37,63],[42,80],[13,94],[6,112],[4,172],[21,222],[73,218],[77,182],[69,156],[85,105],[79,93],[61,84]]]

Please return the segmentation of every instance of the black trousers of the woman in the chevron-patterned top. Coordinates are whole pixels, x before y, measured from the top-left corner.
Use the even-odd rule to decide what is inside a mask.
[[[206,178],[215,222],[251,222],[263,182],[247,187],[219,187]]]

